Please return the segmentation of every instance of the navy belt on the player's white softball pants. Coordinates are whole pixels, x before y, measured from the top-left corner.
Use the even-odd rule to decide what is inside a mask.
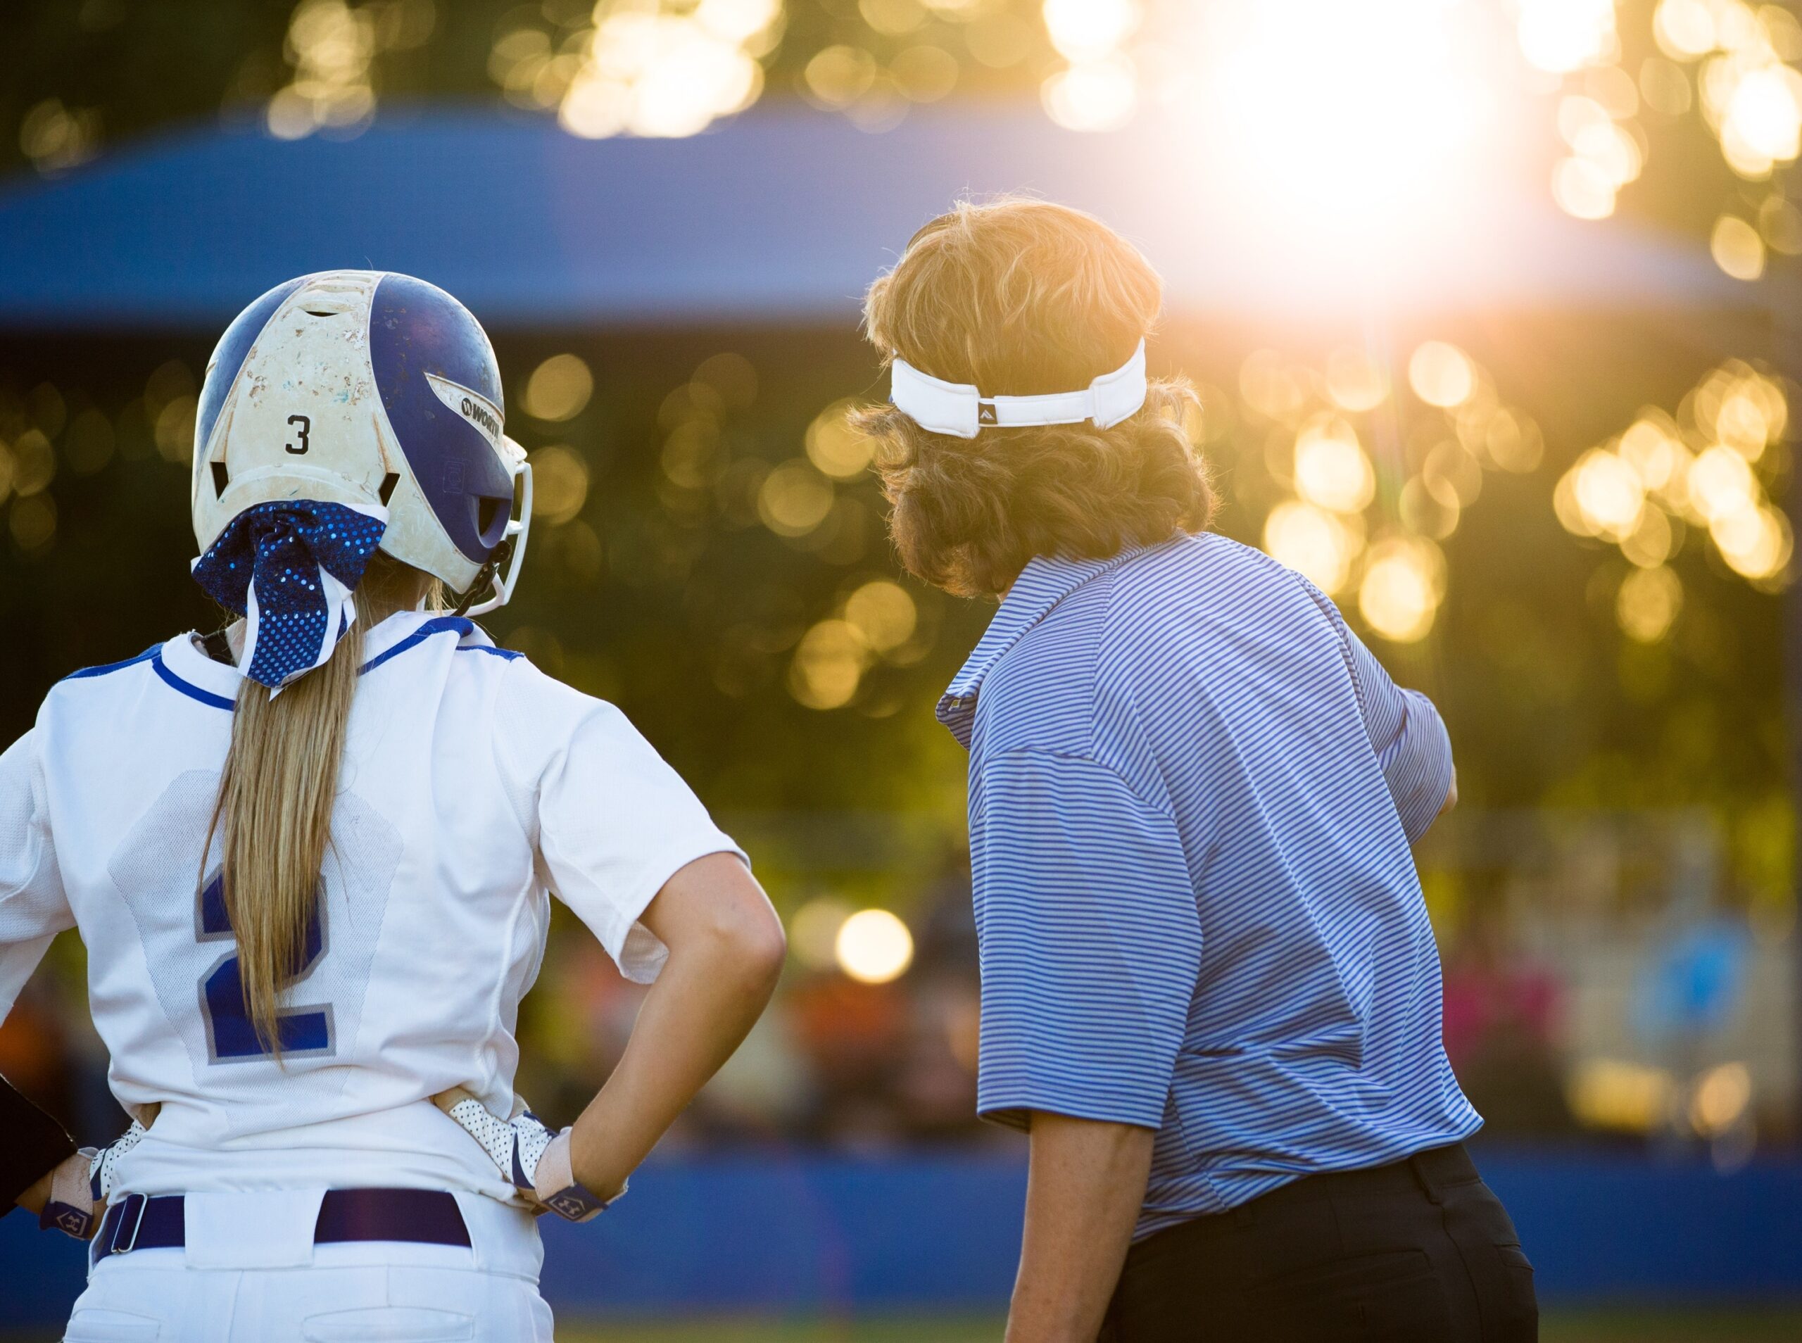
[[[88,1258],[133,1249],[180,1249],[187,1226],[180,1193],[128,1193],[101,1219]],[[314,1244],[341,1240],[411,1240],[469,1249],[469,1226],[445,1190],[326,1190],[314,1224]]]

